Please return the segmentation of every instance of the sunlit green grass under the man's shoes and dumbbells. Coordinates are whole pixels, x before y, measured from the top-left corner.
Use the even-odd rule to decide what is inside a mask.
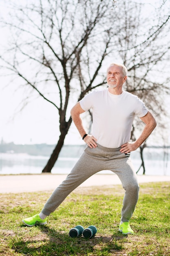
[[[118,231],[121,186],[77,188],[48,218],[48,225],[26,227],[22,218],[39,213],[51,191],[0,194],[0,256],[170,255],[170,182],[142,184],[130,225]],[[91,239],[71,238],[72,227],[95,225]]]

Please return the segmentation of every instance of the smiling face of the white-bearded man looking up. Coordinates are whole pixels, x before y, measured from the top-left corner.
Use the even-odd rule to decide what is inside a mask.
[[[122,67],[111,65],[107,71],[107,84],[110,88],[122,87],[127,76],[123,76]]]

